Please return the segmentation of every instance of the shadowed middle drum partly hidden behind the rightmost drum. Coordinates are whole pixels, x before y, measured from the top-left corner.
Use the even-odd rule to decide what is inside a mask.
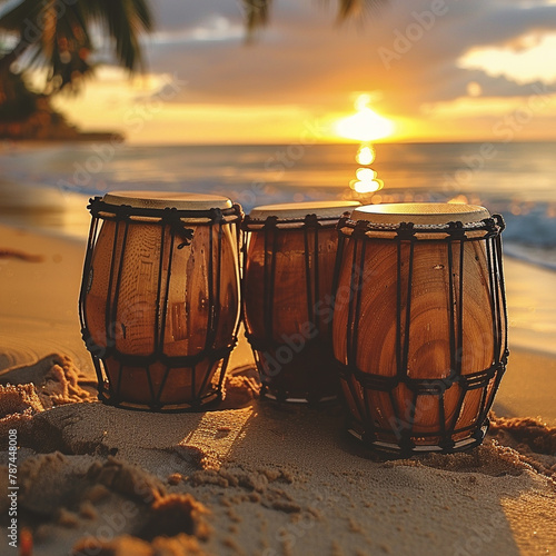
[[[288,401],[338,396],[331,349],[340,216],[356,201],[256,207],[242,225],[246,336],[262,393]]]

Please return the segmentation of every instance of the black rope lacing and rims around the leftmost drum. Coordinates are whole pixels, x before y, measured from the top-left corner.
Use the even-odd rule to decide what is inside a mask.
[[[121,195],[123,193],[123,195]],[[91,334],[89,331],[89,328],[87,326],[87,316],[86,316],[86,309],[85,309],[85,302],[86,302],[86,296],[89,287],[89,275],[92,269],[92,256],[93,256],[93,250],[95,246],[97,244],[97,240],[100,235],[99,230],[99,222],[101,220],[113,220],[117,225],[117,230],[118,227],[123,222],[123,244],[126,241],[126,236],[127,236],[127,229],[129,227],[130,222],[133,221],[139,221],[139,222],[149,222],[152,225],[159,225],[161,228],[161,241],[163,245],[165,240],[165,235],[166,235],[166,228],[168,227],[168,232],[170,234],[171,238],[171,246],[175,245],[176,238],[181,238],[183,241],[178,248],[182,247],[183,245],[188,245],[188,241],[190,240],[189,232],[192,230],[189,230],[186,228],[187,222],[195,224],[196,226],[212,226],[218,224],[220,227],[224,225],[235,225],[236,226],[236,240],[237,240],[237,248],[238,248],[238,265],[239,265],[239,246],[240,246],[240,222],[244,217],[244,212],[241,210],[241,207],[239,205],[231,203],[231,201],[225,197],[217,197],[217,196],[197,196],[196,193],[189,193],[187,196],[187,200],[185,199],[186,196],[180,195],[178,201],[171,201],[171,198],[165,198],[161,200],[161,197],[157,198],[157,201],[159,202],[170,202],[170,205],[175,205],[173,207],[166,206],[165,208],[160,208],[159,206],[152,207],[152,206],[143,206],[145,202],[141,202],[141,198],[138,197],[132,197],[133,193],[140,193],[145,195],[145,191],[136,192],[136,191],[123,191],[123,192],[115,192],[115,193],[107,193],[105,198],[101,197],[95,197],[90,199],[90,202],[88,205],[88,209],[91,212],[92,219],[91,219],[91,226],[89,230],[89,238],[87,242],[87,250],[86,250],[86,257],[85,257],[85,264],[83,264],[83,275],[82,275],[82,282],[81,282],[81,290],[79,295],[79,318],[80,318],[80,324],[81,324],[81,336],[83,341],[86,342],[86,347],[91,354],[92,361],[95,365],[95,370],[97,373],[97,379],[98,379],[98,398],[99,400],[103,401],[107,405],[111,405],[115,407],[121,407],[126,409],[137,409],[137,410],[150,410],[150,411],[158,411],[158,413],[181,413],[181,411],[190,411],[190,410],[200,410],[200,409],[206,409],[215,404],[218,404],[221,400],[221,388],[224,384],[224,377],[226,374],[226,367],[228,364],[229,356],[234,349],[234,347],[237,344],[237,338],[238,338],[238,331],[239,331],[239,326],[240,326],[240,318],[238,318],[237,326],[235,328],[235,331],[232,334],[231,341],[228,346],[221,348],[221,349],[208,349],[208,337],[209,337],[209,331],[211,335],[216,334],[216,327],[218,326],[217,322],[209,322],[209,326],[207,330],[207,345],[205,348],[193,355],[193,356],[181,356],[181,357],[171,357],[171,356],[163,356],[161,355],[161,348],[160,345],[157,346],[155,344],[155,349],[153,354],[150,356],[132,356],[129,354],[121,354],[119,353],[115,346],[109,346],[109,341],[113,341],[113,338],[109,338],[108,332],[107,332],[107,347],[105,346],[99,346],[97,345],[91,337]],[[173,195],[173,193],[171,193]],[[195,205],[191,202],[195,197],[200,197],[202,198],[202,205],[197,205],[198,209],[188,209],[183,208],[186,206],[191,206]],[[210,198],[210,199],[209,199]],[[214,198],[214,199],[212,199]],[[119,202],[119,199],[125,199],[126,205],[116,205],[116,202]],[[108,201],[108,202],[107,202]],[[112,201],[112,202],[110,202]],[[211,202],[215,202],[216,205],[220,205],[220,207],[210,207]],[[176,208],[180,207],[180,208]],[[118,231],[115,234],[115,242],[117,241],[118,237]],[[212,252],[212,235],[210,237],[210,252]],[[217,264],[220,264],[220,257],[221,257],[221,234],[219,234],[219,247],[218,247],[218,260]],[[170,249],[171,250],[171,249]],[[120,251],[120,264],[123,260],[123,252],[125,249],[121,249]],[[113,258],[113,249],[112,249],[112,255],[111,257]],[[162,252],[160,255],[160,259],[162,259]],[[212,256],[209,257],[209,265],[210,267],[212,266]],[[111,265],[112,269],[111,272],[113,271],[115,265]],[[238,272],[239,272],[239,267],[238,267]],[[120,278],[120,272],[118,272],[118,279]],[[167,280],[169,281],[169,277],[171,275],[171,264],[168,267],[167,270]],[[117,285],[118,285],[118,279],[117,279]],[[112,280],[110,280],[111,282]],[[159,274],[159,282],[158,282],[158,291],[160,295],[160,286],[162,281],[162,276]],[[116,285],[116,287],[117,287]],[[219,290],[219,280],[217,280],[217,291]],[[212,280],[210,280],[210,289],[212,289]],[[110,305],[110,297],[111,296],[111,288],[109,287],[110,295],[108,296],[107,299],[107,309],[108,306]],[[117,291],[117,289],[115,290]],[[214,292],[211,294],[214,298]],[[166,287],[165,296],[168,296],[168,287]],[[161,299],[158,297],[157,298],[157,306],[160,307]],[[166,306],[166,302],[162,304],[162,306]],[[214,311],[209,311],[209,319],[214,318],[210,317]],[[166,317],[166,312],[162,318]],[[157,328],[159,325],[159,316],[157,315]],[[163,320],[162,320],[162,328],[163,330]],[[155,336],[158,336],[158,332],[155,332]],[[162,341],[161,345],[163,346],[163,334],[162,336]],[[160,338],[158,338],[159,344],[160,344]],[[163,349],[163,348],[162,348]],[[100,356],[102,354],[102,356]],[[120,399],[120,396],[118,394],[119,390],[119,385],[117,386],[116,390],[112,388],[111,381],[109,379],[109,375],[107,371],[107,365],[105,363],[105,359],[107,359],[110,356],[116,356],[116,359],[120,364],[120,374],[119,376],[121,377],[121,368],[125,365],[128,366],[140,366],[145,368],[149,388],[150,388],[150,394],[152,397],[152,403],[151,404],[138,404],[138,403],[132,403],[132,401],[126,401]],[[205,381],[201,384],[201,388],[199,389],[199,396],[195,397],[191,403],[183,403],[183,404],[162,404],[160,403],[160,397],[163,390],[163,387],[166,385],[166,380],[173,368],[180,368],[180,367],[193,367],[192,368],[192,385],[191,385],[191,390],[195,390],[195,366],[198,365],[198,363],[205,358],[209,358],[210,366],[209,370],[207,371],[207,376],[205,377],[205,381],[208,380],[208,376],[212,373],[212,368],[216,366],[216,370],[214,373],[218,371],[218,366],[220,366],[220,375],[218,377],[218,384],[216,388],[210,389],[207,394],[200,395],[202,391],[202,386],[206,386]],[[221,361],[221,364],[219,363]],[[167,369],[165,373],[165,378],[162,380],[162,385],[159,388],[158,395],[155,395],[155,391],[152,389],[151,385],[151,377],[150,377],[150,370],[149,367],[153,363],[162,363],[166,365]],[[211,383],[212,384],[212,383]],[[158,400],[157,400],[158,398]]]

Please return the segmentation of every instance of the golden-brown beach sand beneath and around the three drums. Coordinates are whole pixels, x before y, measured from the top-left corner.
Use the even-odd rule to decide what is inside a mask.
[[[487,439],[451,456],[384,460],[345,436],[339,406],[259,399],[245,342],[217,410],[116,409],[96,401],[79,332],[83,252],[0,227],[0,488],[16,428],[20,554],[556,550],[553,358],[514,349]],[[2,495],[2,527],[9,508]]]

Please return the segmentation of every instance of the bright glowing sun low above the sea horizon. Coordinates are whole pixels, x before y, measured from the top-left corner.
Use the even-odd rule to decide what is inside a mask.
[[[355,102],[357,112],[336,122],[335,131],[345,139],[376,141],[393,135],[394,122],[371,110],[368,95],[359,95]]]

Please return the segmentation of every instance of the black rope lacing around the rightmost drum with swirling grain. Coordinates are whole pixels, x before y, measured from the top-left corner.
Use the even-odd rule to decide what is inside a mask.
[[[358,245],[367,237],[377,237],[380,240],[395,241],[398,244],[398,290],[397,298],[397,322],[398,338],[396,345],[396,354],[398,354],[400,365],[398,373],[395,376],[385,376],[370,373],[369,368],[365,371],[357,365],[357,341],[350,340],[350,324],[354,324],[353,336],[357,340],[357,327],[359,317],[357,309],[360,308],[360,300],[356,302],[355,308],[349,308],[347,322],[347,342],[346,353],[342,359],[337,359],[339,375],[342,379],[345,391],[348,396],[348,401],[351,406],[351,424],[350,431],[354,436],[364,440],[365,444],[373,446],[375,449],[389,454],[410,456],[415,453],[438,450],[441,453],[453,453],[460,449],[468,449],[477,444],[480,444],[488,429],[488,410],[495,393],[498,389],[502,377],[507,365],[507,314],[504,292],[504,276],[502,265],[502,238],[500,232],[504,230],[505,224],[500,216],[493,215],[490,218],[485,218],[476,222],[451,221],[443,225],[418,225],[411,222],[398,224],[377,224],[367,220],[351,220],[341,218],[338,222],[338,251],[335,272],[339,276],[340,262],[344,261],[342,246],[345,241],[353,241],[354,268],[356,268],[357,258],[359,261],[365,260],[363,248],[358,254]],[[481,231],[480,237],[477,232]],[[375,236],[373,232],[377,232]],[[389,232],[388,237],[384,237],[383,232]],[[467,235],[467,232],[469,232]],[[450,299],[448,300],[449,321],[450,321],[450,366],[449,374],[444,378],[423,379],[414,378],[408,365],[408,342],[405,341],[409,337],[407,324],[411,321],[408,308],[410,302],[403,305],[404,299],[411,299],[411,249],[414,244],[420,240],[421,236],[427,239],[434,239],[434,234],[439,239],[448,244],[448,275]],[[446,237],[444,237],[446,236]],[[464,310],[461,299],[464,295],[464,242],[471,240],[483,240],[485,242],[486,261],[488,265],[489,282],[486,285],[490,296],[490,310],[493,320],[493,341],[494,357],[489,367],[480,369],[476,373],[464,374],[461,368],[461,357],[456,357],[463,353],[463,317]],[[409,242],[406,246],[409,250],[409,265],[406,274],[408,274],[406,286],[401,287],[401,259],[400,245]],[[451,249],[458,246],[459,250],[454,256]],[[453,260],[456,259],[456,260]],[[457,262],[459,259],[459,264]],[[455,269],[459,269],[459,279],[455,278]],[[359,270],[359,267],[356,268]],[[338,287],[338,278],[336,278],[336,288]],[[351,270],[351,288],[355,286],[358,290],[356,276]],[[401,285],[401,286],[400,286]],[[407,292],[406,292],[407,291]],[[403,295],[405,294],[405,295]],[[459,302],[456,307],[456,301]],[[351,301],[350,301],[351,302]],[[404,307],[406,307],[404,309]],[[406,318],[403,319],[404,310]],[[457,322],[457,326],[456,326]],[[403,329],[405,328],[405,329]],[[350,351],[351,350],[351,351]],[[446,369],[448,370],[448,369]],[[454,389],[453,386],[455,386]],[[451,406],[453,415],[448,415],[445,409],[445,396],[450,390],[453,396]],[[478,394],[469,394],[469,391]],[[455,398],[454,398],[455,396]],[[469,405],[470,400],[477,400],[476,416],[473,423],[459,421],[459,416],[463,415],[464,405]],[[457,398],[457,399],[456,399]],[[384,416],[380,411],[378,415],[369,409],[373,400],[381,400],[387,415]],[[438,417],[435,428],[428,430],[415,429],[415,409],[418,407],[419,400],[434,400],[438,407]],[[410,404],[410,406],[408,406]],[[407,408],[409,411],[407,413]],[[378,415],[379,418],[376,418]],[[380,417],[384,419],[380,421]],[[389,417],[388,423],[386,418]],[[401,426],[398,426],[400,424]],[[461,436],[460,436],[461,435]],[[469,436],[467,436],[469,435]],[[421,446],[423,444],[423,446]]]

